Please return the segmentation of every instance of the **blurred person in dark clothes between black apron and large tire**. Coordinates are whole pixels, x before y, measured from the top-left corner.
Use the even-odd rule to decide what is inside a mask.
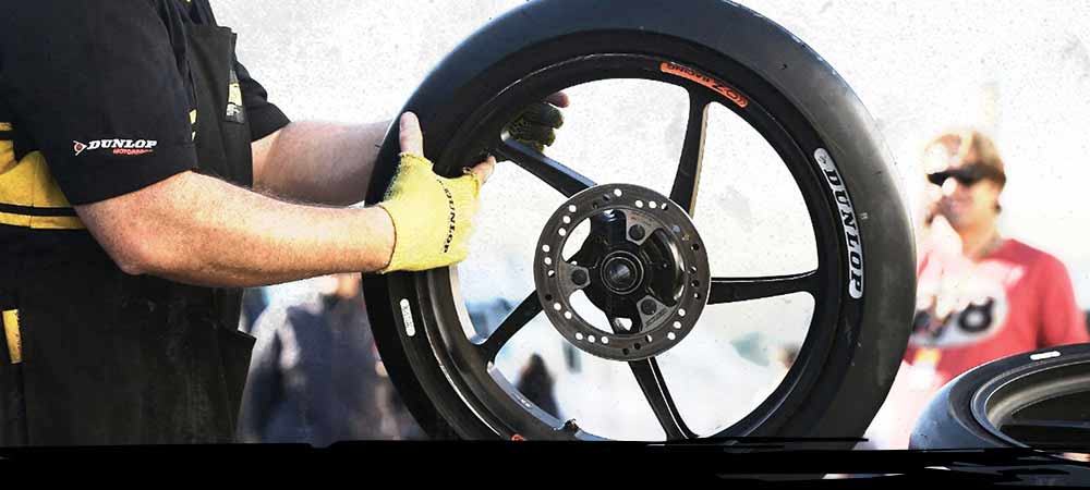
[[[419,439],[378,357],[356,273],[330,275],[300,304],[270,306],[243,393],[239,440]]]

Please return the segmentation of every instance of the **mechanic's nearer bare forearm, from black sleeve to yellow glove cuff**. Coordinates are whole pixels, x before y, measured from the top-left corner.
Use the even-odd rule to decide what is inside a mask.
[[[197,285],[375,271],[393,247],[382,208],[291,204],[194,172],[77,211],[126,272]]]

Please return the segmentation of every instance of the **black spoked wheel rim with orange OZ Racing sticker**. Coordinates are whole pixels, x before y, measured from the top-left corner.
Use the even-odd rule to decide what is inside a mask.
[[[629,34],[628,36],[632,36]],[[649,37],[649,36],[643,36]],[[643,39],[646,42],[647,39]],[[814,157],[803,148],[823,147],[816,132],[787,103],[775,89],[744,68],[691,46],[679,46],[674,39],[658,39],[655,45],[680,51],[649,54],[646,52],[613,52],[605,46],[625,46],[616,35],[602,39],[584,38],[581,50],[568,58],[554,60],[531,75],[504,87],[487,103],[463,120],[460,130],[436,159],[439,171],[460,169],[477,161],[484,151],[511,159],[516,164],[545,181],[564,196],[571,196],[592,184],[559,162],[536,154],[516,142],[504,142],[500,130],[516,111],[541,100],[548,94],[573,85],[610,78],[642,78],[683,87],[690,97],[690,114],[681,163],[675,173],[670,199],[689,208],[695,196],[699,176],[700,145],[703,139],[706,108],[720,101],[747,121],[783,159],[803,196],[816,241],[818,268],[796,274],[765,278],[731,278],[712,280],[710,303],[738,302],[772,297],[792,292],[807,292],[814,299],[807,338],[798,359],[784,381],[750,415],[713,434],[701,437],[732,438],[775,433],[778,425],[802,405],[829,355],[832,336],[843,318],[846,274],[844,257],[847,245],[837,218],[836,203]],[[701,60],[715,60],[704,64]],[[715,64],[716,66],[711,66]],[[692,76],[680,76],[685,70]],[[671,73],[673,72],[673,73]],[[704,83],[694,77],[706,76]],[[718,87],[716,87],[718,86]],[[453,172],[451,172],[453,173]],[[559,204],[559,200],[558,200]],[[691,208],[689,208],[691,209]],[[532,246],[532,244],[529,244]],[[710,248],[714,247],[708,245]],[[711,250],[714,253],[714,250]],[[534,291],[517,306],[487,339],[470,340],[465,335],[469,314],[458,293],[457,269],[440,269],[407,277],[421,302],[423,330],[427,348],[417,348],[410,359],[415,363],[437,363],[444,376],[420,379],[425,391],[429,385],[445,385],[458,394],[472,411],[483,429],[455,427],[462,437],[498,437],[526,439],[598,439],[573,424],[565,424],[525,401],[496,369],[489,367],[504,343],[521,324],[541,313]],[[718,280],[717,280],[718,279]],[[417,329],[421,326],[416,326]],[[674,404],[663,373],[654,359],[630,363],[649,404],[667,439],[698,437],[690,430]],[[449,397],[449,392],[448,397]],[[435,402],[434,394],[429,394]],[[441,408],[439,411],[443,412]],[[779,418],[771,417],[777,413]]]

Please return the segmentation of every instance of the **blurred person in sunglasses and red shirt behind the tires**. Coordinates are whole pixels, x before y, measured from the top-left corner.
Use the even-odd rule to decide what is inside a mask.
[[[1063,262],[998,230],[1007,179],[995,144],[947,132],[925,146],[923,164],[912,335],[869,449],[906,449],[935,392],[976,366],[1090,341]]]

